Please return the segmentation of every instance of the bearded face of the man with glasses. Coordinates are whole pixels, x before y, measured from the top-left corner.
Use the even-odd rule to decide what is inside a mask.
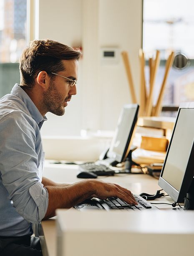
[[[65,71],[57,72],[57,74],[69,79],[78,78],[78,61],[63,60]],[[50,80],[50,87],[43,94],[43,104],[46,112],[51,112],[55,115],[64,115],[65,107],[72,95],[76,95],[76,85],[69,84],[66,78],[55,76]]]

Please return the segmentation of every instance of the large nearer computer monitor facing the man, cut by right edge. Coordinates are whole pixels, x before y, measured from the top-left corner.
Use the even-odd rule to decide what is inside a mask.
[[[186,102],[179,106],[158,184],[175,202],[183,202],[191,183],[193,185],[193,177],[194,102]],[[194,198],[192,193],[191,200]]]

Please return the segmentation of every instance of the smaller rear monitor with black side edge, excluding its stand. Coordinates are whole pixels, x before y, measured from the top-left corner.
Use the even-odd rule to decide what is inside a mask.
[[[139,105],[124,105],[118,118],[116,130],[107,156],[119,163],[125,161],[130,150],[134,128],[137,122]]]

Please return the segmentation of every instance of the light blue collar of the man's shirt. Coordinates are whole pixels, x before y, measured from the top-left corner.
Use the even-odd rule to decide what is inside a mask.
[[[19,84],[14,85],[14,87],[11,90],[11,94],[17,96],[24,102],[24,104],[28,108],[28,111],[30,112],[31,117],[35,120],[40,129],[44,121],[47,120],[47,118],[46,116],[42,116],[40,114],[40,111],[35,106],[34,102],[30,99],[28,94],[20,87]]]

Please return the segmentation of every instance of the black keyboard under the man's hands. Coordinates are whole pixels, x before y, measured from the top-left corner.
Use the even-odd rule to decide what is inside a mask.
[[[151,205],[147,202],[144,198],[139,195],[134,195],[136,202],[138,205],[129,205],[128,203],[124,202],[123,200],[115,197],[107,198],[106,200],[100,200],[97,198],[92,198],[81,202],[80,204],[76,205],[75,208],[77,210],[91,210],[91,209],[98,209],[98,210],[127,210],[127,211],[137,211],[140,210],[159,210],[154,205]]]

